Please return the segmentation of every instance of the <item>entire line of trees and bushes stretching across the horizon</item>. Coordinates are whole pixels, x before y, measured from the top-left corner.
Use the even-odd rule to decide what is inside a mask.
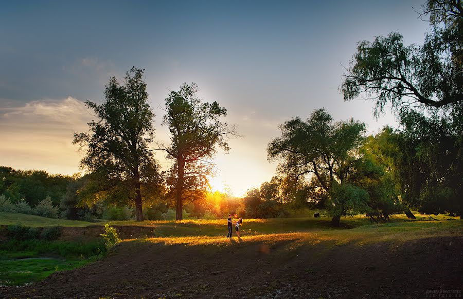
[[[398,32],[361,41],[340,86],[345,101],[369,98],[376,117],[390,106],[398,128],[367,136],[364,123],[335,121],[323,108],[307,119],[294,117],[268,145],[269,160],[279,162],[277,175],[228,207],[249,217],[324,209],[334,225],[359,213],[376,222],[397,212],[414,217],[411,209],[461,215],[463,8],[459,1],[428,0],[420,17],[431,25],[423,45],[405,46]],[[95,119],[73,141],[85,153],[84,177],[51,176],[47,180],[59,187],[47,187],[43,172],[13,180],[14,171],[2,168],[2,193],[37,205],[44,196],[58,204],[59,191],[64,206],[74,206],[64,209],[72,217],[101,202],[134,207],[137,221],[144,220],[143,207],[175,207],[176,220],[186,202],[198,203],[188,213],[217,210],[204,198],[213,157],[218,149],[228,151],[227,138],[237,135],[223,120],[226,108],[201,100],[198,86],[185,83],[165,99],[162,125],[170,142],[157,142],[143,74],[133,67],[122,82],[112,77],[103,103],[85,103]],[[155,160],[156,150],[172,162],[167,171]]]

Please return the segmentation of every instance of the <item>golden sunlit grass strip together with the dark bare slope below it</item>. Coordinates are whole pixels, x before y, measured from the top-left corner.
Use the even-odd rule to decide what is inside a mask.
[[[429,290],[460,290],[462,221],[395,217],[369,225],[364,217],[352,217],[342,223],[331,228],[328,218],[250,220],[241,240],[235,235],[230,241],[223,220],[146,222],[154,237],[124,240],[94,263],[0,293],[6,298],[416,298]]]

